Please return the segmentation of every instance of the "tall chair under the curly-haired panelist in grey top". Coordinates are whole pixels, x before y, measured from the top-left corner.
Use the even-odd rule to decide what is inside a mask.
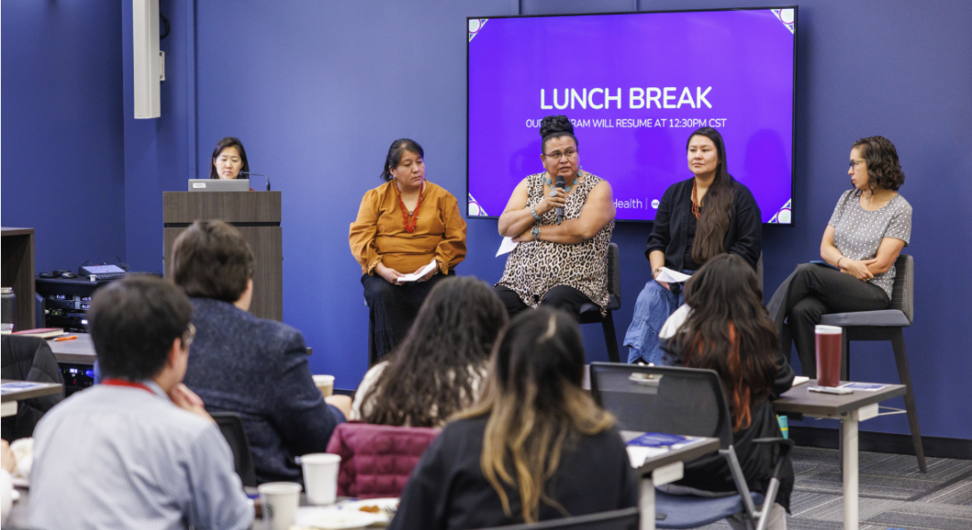
[[[894,362],[898,365],[898,378],[905,390],[905,410],[881,407],[888,414],[908,414],[911,427],[912,444],[921,473],[927,473],[924,462],[924,448],[921,446],[921,431],[918,426],[918,410],[915,407],[915,394],[912,391],[911,373],[908,370],[908,356],[905,353],[904,328],[911,326],[915,316],[915,259],[908,254],[898,255],[894,262],[894,286],[891,290],[891,308],[883,311],[861,311],[857,313],[835,313],[823,315],[821,324],[840,326],[844,329],[841,353],[841,379],[851,381],[851,341],[890,341],[894,350]]]

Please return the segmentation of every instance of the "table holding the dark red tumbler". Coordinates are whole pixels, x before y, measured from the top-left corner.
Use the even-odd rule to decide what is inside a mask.
[[[844,384],[849,381],[841,381]],[[857,530],[858,513],[858,423],[878,415],[878,404],[903,396],[904,384],[883,384],[879,390],[854,390],[852,394],[811,392],[816,380],[790,388],[773,402],[777,414],[799,413],[841,421],[841,460],[844,477],[844,530]]]

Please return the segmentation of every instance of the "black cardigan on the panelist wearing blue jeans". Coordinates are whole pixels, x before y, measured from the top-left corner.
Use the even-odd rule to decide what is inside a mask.
[[[665,266],[681,272],[683,258],[688,245],[688,217],[692,215],[692,181],[676,182],[665,190],[658,211],[655,213],[655,226],[648,236],[644,256],[652,250],[665,252]],[[762,249],[762,217],[756,200],[749,188],[742,182],[733,180],[736,196],[733,214],[726,230],[722,248],[731,254],[739,254],[756,268]]]

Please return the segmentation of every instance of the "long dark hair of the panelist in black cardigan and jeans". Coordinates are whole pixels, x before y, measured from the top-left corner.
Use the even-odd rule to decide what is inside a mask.
[[[685,150],[692,142],[693,136],[705,136],[715,144],[715,153],[719,157],[719,164],[715,168],[715,179],[709,186],[705,201],[705,208],[699,215],[699,222],[695,229],[695,242],[692,244],[692,259],[702,264],[709,261],[715,254],[725,251],[722,241],[729,231],[735,210],[736,182],[726,166],[726,148],[722,142],[722,135],[712,127],[702,127],[688,137]]]

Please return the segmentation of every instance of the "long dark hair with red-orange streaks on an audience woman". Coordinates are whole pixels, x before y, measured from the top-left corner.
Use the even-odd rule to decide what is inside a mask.
[[[685,304],[692,314],[672,338],[682,364],[718,373],[733,431],[746,428],[750,406],[773,388],[780,348],[756,273],[736,254],[713,256],[685,285]]]

